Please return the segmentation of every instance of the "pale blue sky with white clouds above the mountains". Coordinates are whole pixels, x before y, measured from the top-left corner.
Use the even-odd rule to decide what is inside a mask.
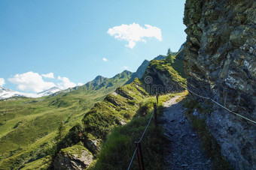
[[[183,13],[184,0],[2,0],[0,85],[36,93],[134,72],[184,43]]]

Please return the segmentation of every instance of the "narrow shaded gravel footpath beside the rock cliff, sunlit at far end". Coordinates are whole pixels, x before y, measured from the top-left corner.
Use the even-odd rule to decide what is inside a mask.
[[[163,104],[166,107],[160,122],[166,136],[166,169],[212,169],[211,161],[203,153],[201,141],[190,121],[183,114],[185,109],[173,97]]]

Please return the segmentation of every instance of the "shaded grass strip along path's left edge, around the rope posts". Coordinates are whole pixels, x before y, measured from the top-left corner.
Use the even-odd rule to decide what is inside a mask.
[[[157,106],[158,115],[163,113],[163,102],[175,94],[162,95]],[[91,169],[127,169],[135,151],[134,142],[139,141],[153,112],[155,97],[149,97],[139,103],[137,114],[125,126],[115,127],[107,136],[99,159]],[[163,145],[165,139],[161,128],[154,127],[154,119],[142,139],[142,154],[145,169],[164,169]],[[131,169],[137,169],[137,157],[134,158]]]

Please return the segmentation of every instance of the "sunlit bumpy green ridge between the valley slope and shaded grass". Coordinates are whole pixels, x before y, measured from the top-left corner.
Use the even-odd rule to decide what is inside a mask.
[[[117,88],[113,93],[108,94],[102,102],[96,103],[84,115],[82,121],[84,130],[80,140],[87,150],[92,153],[90,157],[96,156],[102,141],[114,127],[126,124],[136,114],[136,110],[139,109],[139,102],[148,97],[143,87],[142,82],[136,78],[129,85],[124,85]],[[69,137],[66,138],[66,140],[68,139]],[[67,144],[67,142],[64,143]],[[61,167],[65,169],[67,165],[73,165],[70,161],[69,163],[62,161],[73,160],[72,156],[66,154],[65,151],[66,149],[62,149],[54,160],[55,168]],[[63,159],[63,157],[65,158]],[[84,159],[86,160],[87,158]],[[83,164],[82,166],[86,168],[88,165]]]

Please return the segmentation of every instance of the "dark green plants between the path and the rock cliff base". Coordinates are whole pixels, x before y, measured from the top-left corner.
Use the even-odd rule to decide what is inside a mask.
[[[230,164],[224,160],[221,155],[221,147],[218,145],[216,139],[207,129],[207,126],[203,119],[197,118],[193,115],[194,109],[200,113],[212,112],[211,109],[204,109],[197,100],[194,100],[191,96],[187,96],[183,100],[184,107],[187,108],[186,115],[192,121],[192,127],[197,131],[198,135],[202,139],[203,149],[206,152],[207,157],[212,161],[213,169],[231,169]]]

